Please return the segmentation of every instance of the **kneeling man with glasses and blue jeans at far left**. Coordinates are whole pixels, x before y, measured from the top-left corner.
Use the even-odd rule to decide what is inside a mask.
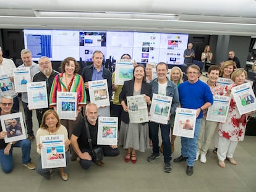
[[[11,96],[1,96],[0,98],[0,115],[12,114],[18,111],[12,110],[14,104]],[[31,162],[30,149],[31,143],[28,139],[5,143],[4,137],[7,135],[6,131],[2,131],[0,124],[0,164],[4,173],[9,173],[14,168],[14,161],[12,157],[12,149],[14,147],[22,148],[22,165],[28,169],[35,169],[35,165]]]

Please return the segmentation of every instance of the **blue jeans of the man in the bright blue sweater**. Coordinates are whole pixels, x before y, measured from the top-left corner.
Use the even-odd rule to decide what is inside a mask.
[[[197,138],[200,131],[201,120],[197,119],[195,122],[194,138],[181,137],[181,154],[183,157],[189,157],[187,159],[187,165],[194,166],[195,158],[197,157]]]

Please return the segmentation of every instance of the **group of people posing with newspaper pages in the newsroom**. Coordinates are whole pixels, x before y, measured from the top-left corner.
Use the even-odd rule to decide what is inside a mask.
[[[186,54],[185,54],[186,52]],[[184,52],[185,60],[195,57],[192,50],[192,44],[189,44],[188,50]],[[202,54],[202,60],[210,62],[210,46],[205,48],[206,54]],[[0,52],[1,53],[1,52]],[[0,54],[0,56],[2,56]],[[92,151],[88,143],[88,135],[85,130],[86,123],[90,130],[93,148],[97,145],[98,115],[119,117],[119,145],[126,149],[124,156],[125,162],[137,162],[137,151],[144,152],[145,149],[152,146],[152,154],[148,156],[148,162],[154,162],[160,157],[160,151],[163,152],[164,172],[171,172],[171,154],[174,151],[173,135],[174,118],[177,107],[195,109],[197,111],[197,120],[194,125],[194,138],[181,137],[181,156],[174,159],[174,162],[187,162],[187,175],[194,172],[194,162],[200,157],[200,161],[205,163],[209,144],[215,136],[215,152],[218,154],[218,164],[225,167],[224,160],[228,158],[231,164],[236,164],[233,154],[237,146],[237,141],[244,138],[244,129],[246,125],[246,115],[239,115],[236,103],[234,102],[231,88],[241,85],[245,82],[247,73],[243,69],[236,69],[236,62],[226,61],[220,67],[212,65],[208,69],[208,81],[204,83],[199,79],[200,68],[197,65],[189,65],[186,70],[188,80],[182,82],[182,71],[179,67],[171,70],[170,78],[166,77],[168,65],[160,62],[157,65],[147,64],[146,67],[134,62],[133,78],[124,82],[124,85],[116,85],[114,82],[115,72],[111,72],[103,65],[103,53],[101,51],[93,52],[93,64],[88,65],[79,71],[79,64],[73,57],[67,57],[61,64],[62,72],[53,70],[51,61],[48,57],[41,57],[38,64],[32,62],[32,54],[28,49],[21,51],[23,64],[19,67],[30,67],[32,81],[46,81],[49,106],[45,109],[36,109],[36,117],[40,128],[36,132],[36,151],[41,154],[43,148],[40,143],[42,135],[64,135],[66,165],[68,167],[69,159],[78,161],[83,169],[88,169],[92,161]],[[132,59],[129,54],[124,54],[121,59]],[[2,62],[1,62],[2,61]],[[0,57],[0,64],[11,70],[15,67],[13,62]],[[156,78],[152,78],[152,68],[156,69]],[[6,73],[8,73],[6,71]],[[232,74],[232,75],[231,75]],[[9,74],[13,81],[12,74]],[[231,78],[233,84],[221,88],[216,80],[218,77]],[[88,81],[103,80],[108,82],[108,98],[110,99],[114,91],[113,109],[110,113],[109,106],[96,106],[90,103],[88,93]],[[75,120],[59,119],[56,112],[57,91],[77,93],[77,115]],[[143,94],[148,106],[148,112],[151,105],[153,94],[161,94],[173,98],[168,123],[132,123],[129,119],[129,110],[127,105],[127,96],[136,96]],[[213,95],[220,94],[231,96],[231,104],[228,111],[228,120],[226,123],[210,122],[205,120],[205,114],[208,107],[213,104]],[[2,96],[0,99],[0,114],[11,114],[19,111],[17,107],[19,99],[15,93],[12,96]],[[31,162],[30,149],[31,142],[35,138],[33,134],[32,110],[29,109],[27,93],[22,93],[22,104],[25,113],[25,123],[28,131],[28,138],[12,143],[4,143],[4,137],[7,132],[0,130],[0,164],[4,172],[11,172],[13,169],[12,148],[22,148],[22,164],[28,169],[35,169],[35,164]],[[86,106],[86,107],[85,107]],[[16,110],[16,111],[15,111]],[[84,113],[83,113],[84,112]],[[85,117],[83,117],[85,115]],[[234,121],[238,123],[234,123]],[[188,123],[189,124],[189,123]],[[1,126],[1,125],[0,125]],[[185,125],[184,125],[185,126]],[[186,125],[185,129],[189,129]],[[162,145],[159,145],[158,129],[161,129]],[[218,135],[217,131],[218,130]],[[236,130],[236,131],[234,131]],[[228,134],[227,134],[228,133]],[[171,134],[171,140],[170,140]],[[219,139],[219,140],[218,140]],[[198,147],[197,147],[198,146]],[[103,148],[104,156],[118,156],[119,149],[117,145],[100,146]],[[70,152],[70,153],[69,153]],[[49,180],[51,169],[43,169],[41,166],[41,157],[38,159],[36,171]],[[97,162],[104,166],[103,161]],[[62,180],[68,179],[67,167],[60,167],[59,173]]]

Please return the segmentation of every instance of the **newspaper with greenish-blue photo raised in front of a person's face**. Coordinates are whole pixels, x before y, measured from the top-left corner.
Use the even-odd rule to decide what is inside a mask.
[[[116,85],[124,85],[124,81],[131,80],[133,77],[134,70],[134,60],[133,59],[117,59],[116,69],[114,76],[114,83]]]

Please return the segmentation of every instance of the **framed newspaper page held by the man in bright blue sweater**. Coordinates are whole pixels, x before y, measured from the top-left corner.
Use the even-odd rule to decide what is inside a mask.
[[[196,120],[197,110],[177,107],[173,135],[194,138]]]

